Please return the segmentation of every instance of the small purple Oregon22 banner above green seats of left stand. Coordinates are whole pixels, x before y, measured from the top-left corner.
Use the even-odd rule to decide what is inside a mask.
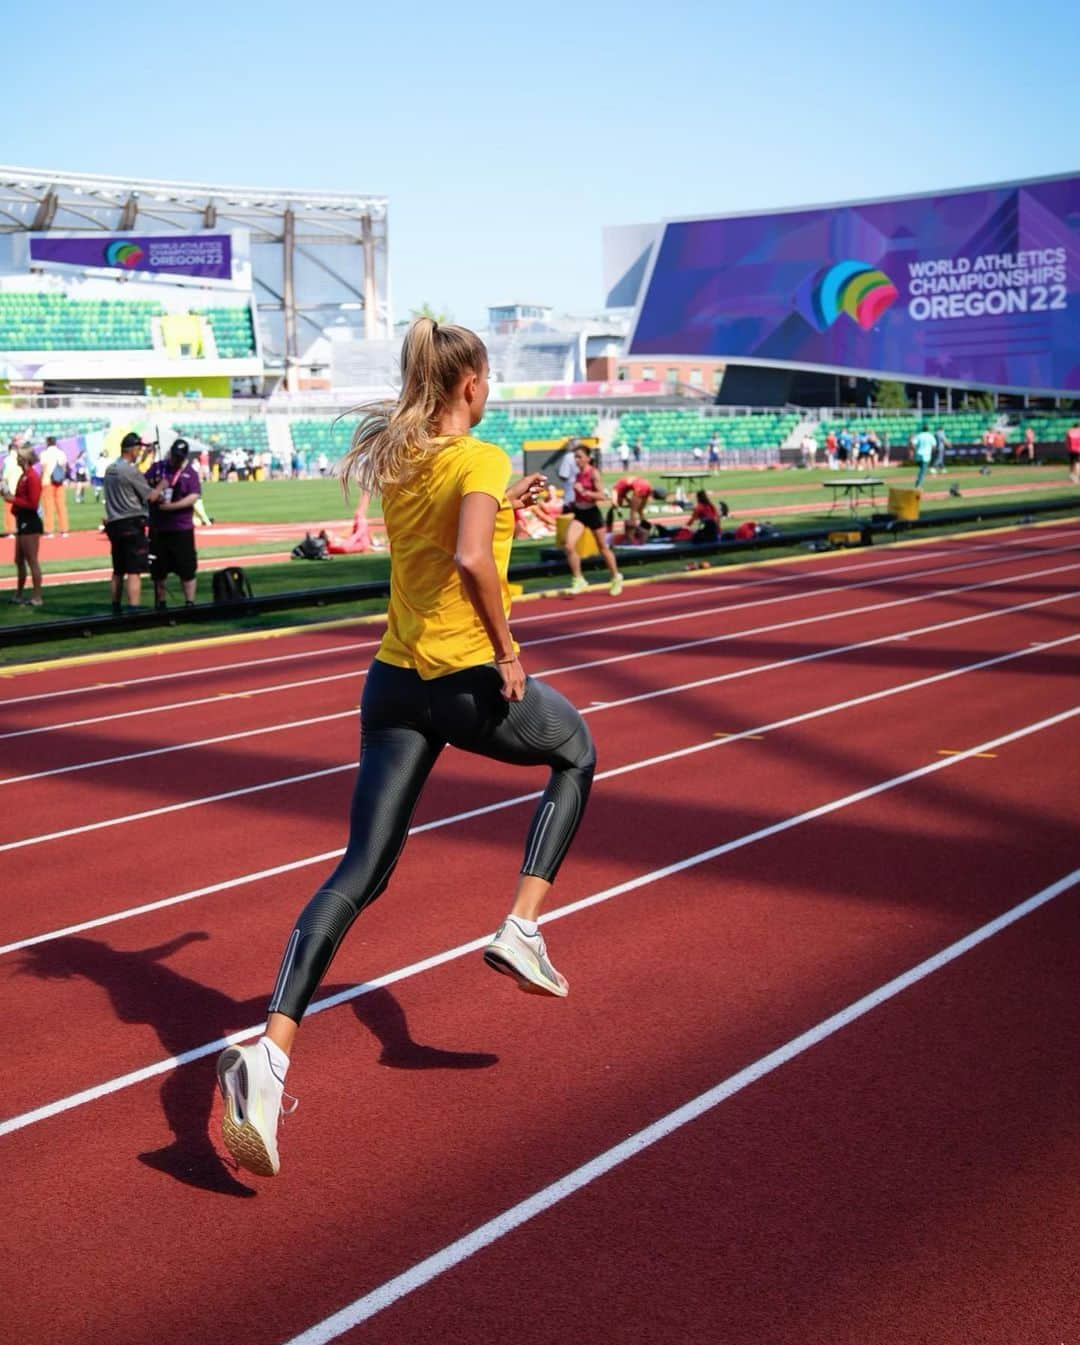
[[[31,234],[31,266],[233,278],[229,234]]]

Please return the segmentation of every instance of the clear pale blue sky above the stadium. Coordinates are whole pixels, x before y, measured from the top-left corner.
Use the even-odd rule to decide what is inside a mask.
[[[390,199],[397,316],[603,301],[601,227],[1073,171],[1080,8],[8,11],[8,164]]]

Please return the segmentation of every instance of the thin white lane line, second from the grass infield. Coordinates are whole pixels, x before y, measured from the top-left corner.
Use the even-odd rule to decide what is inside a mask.
[[[1037,558],[1042,560],[1042,558],[1045,558],[1048,555],[1063,555],[1063,554],[1068,554],[1069,551],[1073,551],[1073,550],[1075,550],[1075,546],[1061,546],[1061,547],[1056,547],[1056,549],[1050,549],[1050,550],[1040,550],[1037,553],[1032,553],[1030,555],[1026,554],[1024,558],[1028,560],[1028,558],[1036,558],[1037,557]],[[925,577],[932,576],[932,574],[951,574],[951,573],[955,573],[958,570],[979,569],[983,565],[986,565],[985,560],[963,561],[962,564],[956,564],[956,565],[941,565],[941,566],[935,566],[932,569],[923,569],[923,570],[915,572],[912,574],[892,576],[890,578],[888,578],[885,581],[882,581],[880,578],[870,578],[870,580],[861,580],[857,584],[847,584],[847,582],[830,584],[830,585],[826,585],[823,588],[808,589],[808,590],[806,590],[803,593],[780,593],[780,594],[776,594],[773,597],[767,597],[767,599],[750,599],[749,601],[745,601],[745,603],[724,603],[720,607],[703,607],[703,608],[702,607],[695,607],[695,608],[693,608],[693,609],[690,609],[687,612],[663,613],[660,616],[648,617],[646,620],[636,619],[633,621],[619,621],[619,623],[612,624],[612,625],[588,627],[585,629],[576,629],[576,631],[569,631],[569,632],[561,632],[558,635],[547,635],[547,636],[543,636],[542,639],[538,639],[538,640],[526,640],[526,642],[523,642],[522,643],[522,648],[523,650],[531,650],[531,648],[537,648],[541,644],[566,643],[566,642],[574,642],[574,640],[590,640],[590,639],[596,639],[597,636],[601,636],[601,635],[613,635],[613,633],[619,633],[621,631],[638,631],[638,629],[644,628],[646,625],[667,625],[667,624],[675,623],[675,621],[699,620],[703,616],[718,616],[718,615],[722,615],[725,612],[738,612],[738,611],[742,611],[744,608],[750,608],[750,607],[773,607],[773,605],[783,604],[783,603],[796,603],[796,601],[802,603],[802,601],[806,601],[806,600],[814,599],[814,597],[827,597],[830,593],[845,593],[846,594],[846,593],[857,592],[859,589],[878,588],[878,586],[881,586],[882,582],[898,585],[898,584],[904,584],[904,582],[907,582],[908,580],[912,580],[912,578],[921,580],[921,578],[925,578]],[[1033,577],[1044,574],[1044,573],[1053,573],[1053,572],[1052,570],[1050,572],[1037,570],[1037,572],[1033,572]],[[1024,577],[1026,577],[1026,576],[1024,576]],[[1021,578],[1022,578],[1022,576],[1011,576],[1010,581],[1011,582],[1019,582]],[[998,582],[998,581],[993,581],[991,580],[991,581],[987,581],[987,582]],[[755,584],[752,586],[757,586],[757,585]],[[732,585],[732,588],[738,588],[738,586],[737,585]],[[724,592],[726,592],[726,589]],[[694,594],[694,596],[697,597],[698,594]],[[706,596],[710,597],[710,599],[714,599],[717,596],[717,590],[716,589],[709,590]],[[659,599],[659,597],[648,597],[648,599],[638,599],[638,600],[631,599],[628,603],[623,603],[621,599],[620,599],[619,608],[621,609],[621,608],[625,608],[625,607],[632,607],[636,603],[658,603],[658,601],[662,601],[662,599]],[[666,597],[666,601],[671,601],[671,596],[670,594]],[[612,604],[607,603],[603,607],[586,608],[585,611],[588,611],[588,612],[603,612],[605,615],[611,615]],[[851,611],[855,611],[855,609],[851,609]],[[858,609],[858,611],[873,611],[873,608]],[[533,617],[533,619],[535,620],[535,617]],[[520,625],[523,623],[515,620],[514,624],[515,625]],[[378,642],[370,642],[370,644],[367,644],[364,647],[374,648],[377,643]],[[582,666],[588,667],[590,664],[582,664]],[[172,701],[172,702],[169,702],[165,706],[151,705],[151,706],[141,706],[141,707],[134,709],[134,710],[116,710],[112,714],[89,716],[89,717],[85,717],[85,718],[81,718],[81,720],[65,720],[65,721],[61,721],[61,722],[56,722],[56,724],[39,724],[39,725],[35,725],[35,726],[27,728],[27,729],[12,729],[12,730],[8,730],[7,733],[0,733],[0,742],[8,741],[11,738],[32,737],[32,736],[40,734],[40,733],[56,733],[56,732],[61,732],[61,730],[65,730],[65,729],[86,728],[86,726],[94,725],[94,724],[112,724],[112,722],[114,722],[117,720],[134,720],[134,718],[140,718],[140,717],[148,716],[148,714],[151,714],[151,716],[152,714],[160,714],[163,712],[163,709],[167,709],[169,713],[173,713],[176,710],[186,710],[186,709],[191,709],[194,706],[213,705],[213,703],[215,703],[218,701],[247,699],[247,698],[256,697],[256,695],[270,695],[270,694],[274,694],[274,693],[278,693],[278,691],[293,691],[293,690],[297,690],[297,689],[303,689],[305,686],[319,686],[319,685],[321,685],[324,682],[343,682],[343,681],[348,681],[350,678],[362,677],[362,675],[363,675],[363,668],[362,667],[354,667],[354,668],[350,668],[346,672],[331,672],[331,674],[319,675],[319,677],[313,677],[313,678],[304,678],[304,679],[295,681],[295,682],[273,682],[269,686],[261,686],[261,687],[256,687],[253,690],[215,691],[213,695],[203,695],[203,697],[198,697],[198,698],[194,698],[194,699],[190,699],[190,701]],[[4,784],[4,783],[7,783],[7,781],[0,780],[0,784]]]

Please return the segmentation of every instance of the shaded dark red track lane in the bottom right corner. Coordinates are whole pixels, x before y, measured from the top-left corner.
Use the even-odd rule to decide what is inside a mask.
[[[527,1266],[537,1345],[1067,1340],[1073,924],[1044,908],[330,1338],[480,1340]]]

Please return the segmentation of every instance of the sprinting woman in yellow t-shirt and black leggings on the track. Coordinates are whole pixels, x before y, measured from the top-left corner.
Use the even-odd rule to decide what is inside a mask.
[[[534,503],[543,477],[508,487],[506,453],[469,433],[488,394],[487,351],[473,332],[417,319],[401,373],[401,399],[369,409],[342,464],[346,479],[382,495],[391,547],[386,633],[360,705],[348,847],[292,931],[265,1034],[218,1060],[225,1146],[266,1177],[280,1167],[277,1122],[300,1020],[350,925],[390,881],[448,742],[550,768],[510,913],[484,960],[531,994],[569,989],[537,916],[581,822],[596,755],[569,701],[526,677],[507,620],[514,507]]]

